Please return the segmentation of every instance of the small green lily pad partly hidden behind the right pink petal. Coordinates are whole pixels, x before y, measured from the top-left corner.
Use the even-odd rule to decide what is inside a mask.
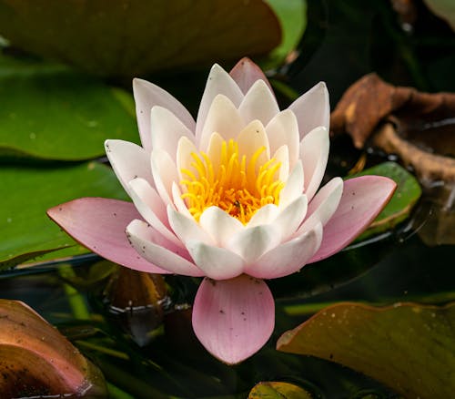
[[[393,229],[401,221],[406,220],[410,216],[410,211],[417,200],[420,199],[422,192],[418,180],[408,170],[400,167],[395,162],[384,162],[372,168],[362,170],[358,174],[349,176],[349,179],[365,175],[379,175],[393,179],[397,183],[397,189],[387,206],[369,225],[368,230],[359,236],[358,241]]]

